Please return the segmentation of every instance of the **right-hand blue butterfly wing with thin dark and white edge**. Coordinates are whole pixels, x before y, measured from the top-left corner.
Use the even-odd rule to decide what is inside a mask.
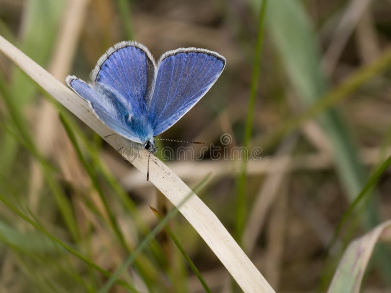
[[[225,58],[216,52],[181,48],[165,53],[158,62],[148,121],[153,136],[173,126],[216,82]]]

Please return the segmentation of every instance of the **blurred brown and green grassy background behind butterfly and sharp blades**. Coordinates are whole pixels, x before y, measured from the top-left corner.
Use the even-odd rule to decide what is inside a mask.
[[[254,56],[260,53],[256,52],[260,3],[0,0],[0,34],[62,81],[67,74],[88,80],[98,58],[114,43],[127,39],[145,44],[156,60],[178,47],[215,50],[227,59],[221,77],[162,137],[221,146],[220,136],[227,133],[233,139],[232,148],[243,142],[252,73],[258,66]],[[248,162],[240,242],[276,291],[324,292],[348,243],[390,218],[391,181],[387,171],[327,251],[349,204],[372,170],[390,154],[391,1],[269,0],[267,5],[250,141],[252,147],[261,146],[265,157]],[[0,100],[0,192],[17,199],[18,205],[30,210],[51,233],[114,271],[127,255],[126,250],[106,225],[99,191],[69,142],[58,110],[3,55],[0,69],[11,98],[11,102],[5,97]],[[12,109],[22,117],[24,130],[44,159],[54,167],[51,175],[45,175],[44,167],[25,147]],[[83,153],[126,241],[134,248],[143,233],[133,213],[118,200],[118,192],[133,201],[148,228],[157,223],[148,205],[164,211],[171,208],[170,203],[80,121],[73,119],[72,125],[81,128],[75,132]],[[83,139],[90,142],[94,152],[83,147]],[[164,146],[175,149],[186,145]],[[235,234],[241,162],[213,161],[210,155],[206,152],[202,161],[174,160],[167,164],[189,186],[213,172],[212,181],[198,195]],[[103,170],[112,172],[122,191],[112,187]],[[48,185],[51,181],[47,176],[62,190],[74,215],[73,224],[66,224],[62,204],[53,197],[53,190],[58,189]],[[0,232],[2,292],[30,292],[29,288],[34,292],[43,292],[42,288],[48,292],[85,292],[77,281],[67,281],[70,277],[62,271],[67,257],[64,251],[43,248],[37,252],[21,247],[30,237],[26,231],[34,230],[5,207],[0,208],[0,217],[5,227]],[[76,227],[79,236],[73,237],[69,227]],[[238,290],[232,289],[235,286],[224,267],[183,217],[177,216],[170,227],[213,292]],[[16,240],[9,239],[7,229],[18,235]],[[161,234],[157,243],[165,251],[165,262],[162,265],[151,251],[146,252],[154,276],[140,276],[139,268],[133,268],[130,273],[137,290],[203,292],[167,234]],[[54,256],[49,257],[51,253]],[[376,247],[362,292],[390,292],[389,256],[389,247]],[[54,268],[49,264],[51,259]],[[99,273],[88,274],[73,256],[70,267],[70,272],[87,280],[91,292],[105,280]],[[38,268],[39,276],[33,268]],[[50,270],[53,272],[48,273]],[[123,288],[115,286],[112,292],[117,291],[123,292]]]

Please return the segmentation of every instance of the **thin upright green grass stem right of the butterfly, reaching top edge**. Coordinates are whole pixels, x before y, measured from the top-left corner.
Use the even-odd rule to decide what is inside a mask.
[[[239,176],[237,178],[237,208],[236,208],[236,219],[235,219],[235,233],[236,233],[236,239],[239,243],[241,241],[240,238],[243,232],[244,222],[246,218],[246,174],[247,174],[246,169],[247,169],[247,158],[248,158],[248,146],[250,144],[251,134],[253,130],[255,101],[258,92],[261,51],[262,51],[262,43],[263,43],[263,25],[265,19],[266,4],[267,4],[267,0],[262,0],[260,15],[259,15],[259,24],[258,24],[257,45],[254,53],[248,112],[247,112],[246,125],[244,128],[243,146],[247,153],[246,153],[246,158],[244,158],[244,160],[242,160],[241,162]]]

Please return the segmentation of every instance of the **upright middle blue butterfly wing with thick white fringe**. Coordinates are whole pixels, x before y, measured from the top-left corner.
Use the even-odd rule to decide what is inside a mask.
[[[91,79],[115,89],[130,104],[137,117],[146,115],[155,74],[149,50],[137,42],[120,42],[111,47],[91,72]]]

